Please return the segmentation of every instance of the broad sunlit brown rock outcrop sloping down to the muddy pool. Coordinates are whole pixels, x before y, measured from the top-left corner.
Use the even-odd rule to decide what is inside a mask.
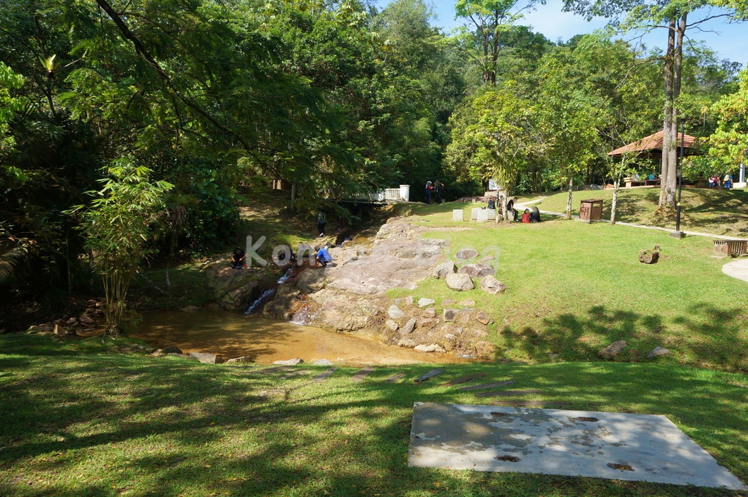
[[[292,284],[279,287],[263,313],[341,332],[360,331],[428,353],[491,359],[488,327],[477,311],[448,309],[443,315],[430,296],[411,295],[394,302],[387,296],[393,288],[413,290],[429,276],[457,278],[459,288],[473,288],[470,275],[458,274],[453,262],[444,262],[446,242],[421,238],[425,230],[405,219],[390,219],[370,246],[331,248],[334,266],[304,269]],[[482,266],[493,270],[489,264]]]

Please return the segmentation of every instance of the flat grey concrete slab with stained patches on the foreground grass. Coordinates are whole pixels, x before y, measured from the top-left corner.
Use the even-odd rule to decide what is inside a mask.
[[[417,402],[408,464],[748,490],[660,415]]]

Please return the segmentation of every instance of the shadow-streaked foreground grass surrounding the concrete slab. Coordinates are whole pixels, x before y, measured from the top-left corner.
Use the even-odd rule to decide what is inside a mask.
[[[119,343],[119,342],[115,342]],[[0,337],[0,489],[13,496],[727,496],[595,478],[408,468],[414,401],[482,403],[442,382],[514,379],[570,409],[666,415],[748,480],[748,377],[656,364],[428,365],[330,379]],[[313,371],[319,368],[308,367]],[[384,379],[396,372],[398,384]],[[480,402],[476,402],[480,400]]]

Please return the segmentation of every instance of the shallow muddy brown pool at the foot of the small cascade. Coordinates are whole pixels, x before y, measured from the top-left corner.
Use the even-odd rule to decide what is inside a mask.
[[[328,332],[226,311],[145,313],[129,332],[154,347],[176,345],[184,353],[209,352],[224,359],[249,356],[261,365],[298,357],[350,365],[467,362],[450,354],[420,353],[349,333]]]

